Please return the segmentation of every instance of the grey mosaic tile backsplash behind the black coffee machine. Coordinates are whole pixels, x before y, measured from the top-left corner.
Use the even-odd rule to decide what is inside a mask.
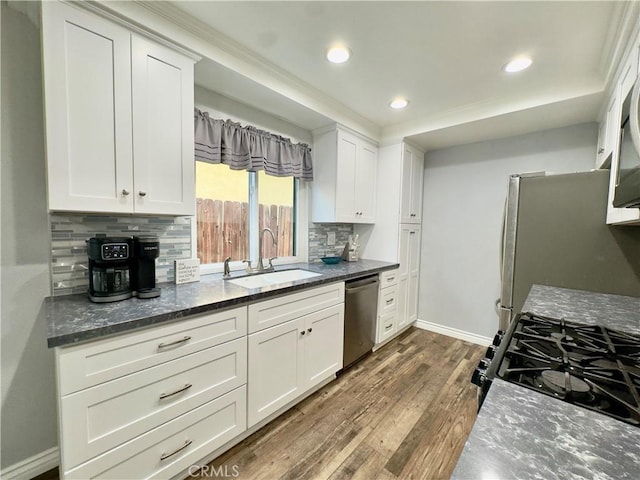
[[[158,283],[173,282],[173,261],[191,256],[191,217],[142,217],[55,214],[51,224],[53,295],[84,293],[89,287],[87,245],[90,237],[156,235]]]

